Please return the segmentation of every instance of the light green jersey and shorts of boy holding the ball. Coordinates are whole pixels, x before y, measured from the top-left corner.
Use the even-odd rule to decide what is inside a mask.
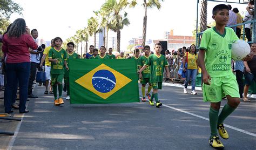
[[[223,35],[215,26],[204,32],[200,49],[205,50],[205,67],[211,76],[211,85],[203,84],[204,101],[217,103],[226,95],[240,97],[231,69],[232,43],[237,39],[232,28],[225,28]]]

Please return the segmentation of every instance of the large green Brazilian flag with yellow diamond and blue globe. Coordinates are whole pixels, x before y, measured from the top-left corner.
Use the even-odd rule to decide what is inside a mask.
[[[70,104],[139,102],[135,59],[70,59]]]

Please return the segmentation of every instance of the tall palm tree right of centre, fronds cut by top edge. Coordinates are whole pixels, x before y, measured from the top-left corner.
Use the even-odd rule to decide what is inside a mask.
[[[143,36],[142,36],[142,45],[145,46],[146,43],[146,30],[147,30],[147,8],[153,8],[157,7],[159,10],[161,8],[161,3],[159,0],[149,0],[148,2],[146,0],[143,0],[143,6],[145,9],[145,16],[143,17]],[[164,0],[161,0],[162,2]]]

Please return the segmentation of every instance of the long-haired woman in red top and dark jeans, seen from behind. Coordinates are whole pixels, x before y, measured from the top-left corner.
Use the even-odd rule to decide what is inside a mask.
[[[3,37],[2,51],[5,53],[6,86],[4,90],[5,113],[12,113],[11,103],[14,89],[19,81],[19,113],[27,113],[28,79],[30,73],[29,48],[37,49],[37,44],[26,28],[24,19],[18,18]]]

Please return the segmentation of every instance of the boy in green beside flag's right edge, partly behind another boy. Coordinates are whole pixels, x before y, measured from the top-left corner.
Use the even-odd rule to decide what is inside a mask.
[[[144,56],[140,56],[138,67],[139,70],[142,69],[142,66],[145,65],[147,59],[149,59],[150,56],[150,46],[146,45],[144,46]],[[142,101],[146,101],[145,98],[145,86],[147,83],[149,83],[149,87],[147,87],[147,93],[146,96],[149,98],[150,105],[154,105],[152,101],[150,101],[151,95],[150,91],[152,89],[151,81],[150,81],[150,66],[146,67],[146,69],[142,72],[142,78],[140,78],[140,83],[142,84]]]

